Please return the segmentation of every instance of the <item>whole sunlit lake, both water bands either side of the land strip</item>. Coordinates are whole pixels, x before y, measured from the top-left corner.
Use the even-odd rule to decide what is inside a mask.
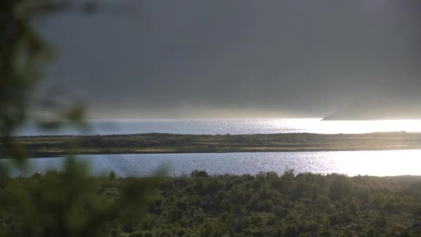
[[[321,121],[321,119],[249,119],[249,120],[93,120],[89,130],[75,128],[45,131],[29,124],[19,135],[136,134],[165,132],[175,134],[275,134],[311,132],[324,134],[367,132],[421,132],[421,121]],[[260,171],[343,173],[346,175],[421,175],[420,150],[343,151],[343,152],[253,152],[217,154],[165,155],[89,155],[93,175],[151,175],[159,166],[169,168],[170,175],[183,175],[191,170],[211,174],[256,174]],[[43,173],[47,168],[60,169],[62,158],[30,159],[28,173]],[[15,173],[19,175],[19,173]]]

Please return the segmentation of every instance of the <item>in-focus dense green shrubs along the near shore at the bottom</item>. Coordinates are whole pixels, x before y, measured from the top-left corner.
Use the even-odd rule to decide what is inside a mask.
[[[9,179],[37,198],[39,191],[60,191],[56,179],[64,174],[49,172],[30,178]],[[100,203],[121,200],[127,184],[151,178],[91,177],[91,195],[66,198],[66,213],[74,232],[80,219],[89,219]],[[76,179],[74,182],[78,182]],[[112,211],[100,228],[102,236],[420,236],[421,177],[346,177],[287,171],[283,175],[209,176],[194,171],[190,176],[166,177],[149,195],[143,222],[127,220],[125,210]],[[51,189],[57,188],[57,189]],[[66,188],[64,188],[66,189]],[[1,188],[8,193],[7,188]],[[121,200],[123,201],[123,200]],[[142,202],[139,202],[142,204]],[[35,209],[48,207],[34,206]],[[116,208],[118,208],[116,206]],[[126,207],[127,208],[127,207]],[[11,236],[27,231],[12,208],[2,207],[0,223]],[[56,210],[57,211],[57,210]],[[64,214],[62,213],[62,214]],[[44,216],[34,223],[47,225]],[[74,218],[74,219],[72,219]],[[62,228],[70,228],[69,223]],[[54,227],[57,228],[57,227]],[[57,230],[57,229],[53,229]],[[55,236],[62,232],[54,232]],[[78,236],[78,235],[73,235]]]

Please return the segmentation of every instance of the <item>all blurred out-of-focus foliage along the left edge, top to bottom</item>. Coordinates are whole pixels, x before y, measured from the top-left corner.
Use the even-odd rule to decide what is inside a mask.
[[[34,89],[54,55],[33,24],[69,9],[90,12],[94,5],[91,1],[0,1],[0,139],[13,158],[12,163],[0,163],[0,236],[103,236],[110,222],[140,220],[158,182],[158,178],[127,178],[116,195],[97,198],[98,179],[89,177],[87,165],[72,157],[60,173],[9,177],[10,168],[24,171],[28,165],[26,152],[13,141],[13,134],[29,119],[39,120],[42,128],[84,125],[80,105],[60,108],[47,121],[30,113]]]

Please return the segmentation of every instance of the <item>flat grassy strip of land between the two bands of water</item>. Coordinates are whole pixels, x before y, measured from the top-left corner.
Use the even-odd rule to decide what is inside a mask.
[[[14,137],[29,157],[62,155],[204,153],[204,152],[297,152],[338,150],[421,149],[421,133],[376,132],[369,134],[251,134],[186,135],[127,134],[104,136]],[[0,143],[0,157],[8,150]]]

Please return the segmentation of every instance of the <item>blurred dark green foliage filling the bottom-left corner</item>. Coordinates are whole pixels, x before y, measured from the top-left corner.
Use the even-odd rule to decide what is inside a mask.
[[[67,159],[62,173],[0,179],[0,236],[104,236],[108,222],[142,220],[159,177],[125,179],[113,193],[87,172]]]

